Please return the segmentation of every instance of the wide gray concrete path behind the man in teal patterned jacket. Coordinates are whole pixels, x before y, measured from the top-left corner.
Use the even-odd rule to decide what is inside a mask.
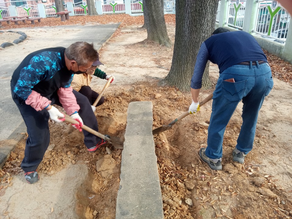
[[[11,98],[10,80],[14,69],[29,53],[49,47],[68,47],[77,41],[93,43],[99,50],[119,25],[120,23],[11,29],[26,33],[28,38],[24,42],[0,50],[0,141],[19,138],[19,133],[26,132],[23,119]],[[4,151],[3,145],[1,151]],[[10,149],[5,150],[5,154],[0,153],[0,167],[5,162],[8,151]]]

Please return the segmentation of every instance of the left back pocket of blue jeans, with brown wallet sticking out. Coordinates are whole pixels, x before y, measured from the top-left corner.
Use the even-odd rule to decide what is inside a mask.
[[[223,96],[229,101],[240,101],[243,98],[247,80],[239,82],[222,81]]]

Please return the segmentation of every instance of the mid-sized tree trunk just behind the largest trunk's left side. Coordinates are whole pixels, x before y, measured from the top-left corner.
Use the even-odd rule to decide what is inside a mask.
[[[147,26],[147,39],[170,47],[171,42],[167,35],[161,0],[143,1],[143,8]]]

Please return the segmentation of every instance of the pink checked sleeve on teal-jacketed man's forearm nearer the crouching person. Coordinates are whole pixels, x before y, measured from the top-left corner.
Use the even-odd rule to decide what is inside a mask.
[[[61,87],[57,93],[59,96],[59,101],[68,115],[71,115],[75,111],[79,111],[80,106],[77,104],[76,97],[71,86],[68,88]]]

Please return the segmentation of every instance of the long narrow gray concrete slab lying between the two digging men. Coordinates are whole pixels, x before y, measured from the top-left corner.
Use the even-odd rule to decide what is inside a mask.
[[[129,104],[116,219],[164,218],[152,123],[152,102]]]

